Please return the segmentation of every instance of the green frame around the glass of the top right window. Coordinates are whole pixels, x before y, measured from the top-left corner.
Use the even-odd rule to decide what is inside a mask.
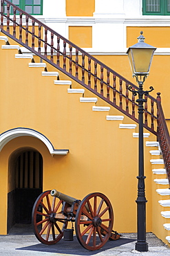
[[[142,0],[142,15],[170,15],[167,8],[167,0],[160,0],[159,12],[147,12],[147,0]]]

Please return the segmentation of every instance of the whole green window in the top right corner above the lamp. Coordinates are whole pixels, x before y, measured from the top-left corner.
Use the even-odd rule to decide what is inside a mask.
[[[142,0],[143,15],[170,15],[170,0]]]

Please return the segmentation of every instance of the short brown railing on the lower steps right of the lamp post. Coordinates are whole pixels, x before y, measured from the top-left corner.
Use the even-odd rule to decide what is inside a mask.
[[[164,112],[162,110],[160,93],[157,93],[157,107],[158,107],[158,127],[157,127],[157,138],[160,143],[160,149],[162,151],[162,157],[164,160],[164,166],[167,170],[167,176],[170,184],[170,138],[167,123],[164,119]]]

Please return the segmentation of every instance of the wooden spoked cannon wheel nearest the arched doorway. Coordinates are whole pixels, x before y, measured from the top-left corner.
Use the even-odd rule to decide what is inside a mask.
[[[40,194],[32,208],[32,225],[36,238],[43,244],[56,244],[63,237],[63,228],[67,222],[55,219],[56,213],[61,212],[60,199],[50,195],[51,190]]]

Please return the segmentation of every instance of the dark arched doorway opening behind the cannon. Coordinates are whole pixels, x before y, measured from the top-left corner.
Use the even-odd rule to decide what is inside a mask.
[[[10,187],[10,188],[9,188]],[[35,149],[12,154],[8,170],[8,232],[15,224],[30,224],[32,206],[43,191],[43,158]]]

